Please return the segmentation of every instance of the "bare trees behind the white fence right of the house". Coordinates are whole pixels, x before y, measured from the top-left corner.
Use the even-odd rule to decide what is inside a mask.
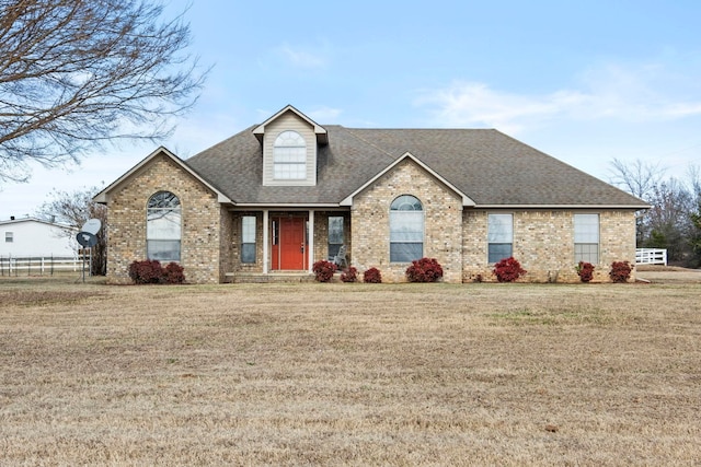
[[[611,163],[611,183],[650,203],[637,215],[637,247],[666,248],[671,264],[701,267],[701,171],[690,165],[686,176],[665,175],[659,164],[640,160]]]

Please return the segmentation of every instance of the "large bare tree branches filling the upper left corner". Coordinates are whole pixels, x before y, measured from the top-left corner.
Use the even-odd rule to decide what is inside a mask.
[[[207,70],[150,0],[0,0],[0,182],[118,139],[160,139]]]

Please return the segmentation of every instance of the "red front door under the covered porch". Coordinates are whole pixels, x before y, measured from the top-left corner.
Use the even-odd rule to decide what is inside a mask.
[[[303,218],[273,219],[273,270],[304,270],[307,221]]]

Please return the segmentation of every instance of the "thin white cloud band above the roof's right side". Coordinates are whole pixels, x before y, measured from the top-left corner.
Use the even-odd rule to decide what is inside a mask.
[[[456,81],[444,89],[422,92],[415,105],[430,109],[432,125],[486,126],[509,133],[556,119],[650,122],[701,116],[699,85],[662,67],[607,66],[582,73],[578,83],[578,89],[537,95]],[[688,100],[688,95],[696,100]]]

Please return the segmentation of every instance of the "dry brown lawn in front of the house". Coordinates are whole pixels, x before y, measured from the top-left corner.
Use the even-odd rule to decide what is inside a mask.
[[[701,289],[0,279],[0,465],[699,465]]]

